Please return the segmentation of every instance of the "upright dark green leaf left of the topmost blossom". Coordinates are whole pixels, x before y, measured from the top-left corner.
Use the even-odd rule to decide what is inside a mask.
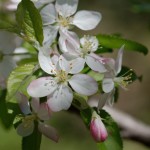
[[[30,0],[22,0],[16,12],[18,27],[24,38],[30,42],[43,42],[43,29],[41,16]]]

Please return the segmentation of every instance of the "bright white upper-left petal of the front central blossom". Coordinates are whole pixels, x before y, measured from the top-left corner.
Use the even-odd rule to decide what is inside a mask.
[[[47,53],[47,52],[46,52]],[[50,53],[50,52],[49,52]],[[54,70],[56,69],[52,60],[50,59],[50,55],[45,55],[44,50],[41,49],[38,54],[38,60],[40,67],[48,74],[55,74]]]

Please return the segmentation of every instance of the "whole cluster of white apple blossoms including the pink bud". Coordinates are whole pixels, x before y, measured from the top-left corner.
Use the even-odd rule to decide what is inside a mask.
[[[121,71],[124,46],[120,48],[116,61],[104,58],[96,53],[100,45],[96,36],[84,35],[79,38],[71,31],[74,26],[85,31],[96,28],[102,18],[99,12],[77,11],[78,0],[56,0],[55,4],[45,0],[42,4],[44,6],[40,8],[40,14],[43,20],[44,40],[43,45],[37,44],[36,48],[40,68],[48,75],[39,77],[29,84],[27,92],[33,98],[32,111],[25,102],[26,108],[21,109],[25,116],[17,127],[17,132],[22,136],[31,134],[36,120],[39,123],[39,131],[57,141],[56,134],[53,134],[54,130],[48,129],[52,130],[51,134],[45,132],[46,127],[41,122],[48,119],[48,109],[53,112],[69,109],[74,93],[86,96],[89,107],[93,106],[90,101],[98,95],[96,107],[101,109],[107,101],[112,103],[115,86],[125,88],[129,77],[117,77]],[[104,75],[101,85],[84,73],[86,68]],[[40,104],[41,97],[46,97],[45,103]],[[22,106],[22,102],[20,104]],[[107,138],[107,130],[95,111],[90,130],[97,142]]]

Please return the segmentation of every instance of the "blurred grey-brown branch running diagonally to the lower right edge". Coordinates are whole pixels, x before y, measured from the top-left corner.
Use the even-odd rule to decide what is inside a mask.
[[[121,128],[121,135],[150,147],[150,126],[142,123],[130,115],[105,106],[104,109],[111,114]]]

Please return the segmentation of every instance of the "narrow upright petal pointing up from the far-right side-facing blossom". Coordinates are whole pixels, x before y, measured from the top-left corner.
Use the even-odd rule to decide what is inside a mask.
[[[124,45],[119,49],[118,56],[117,56],[117,59],[116,59],[116,62],[115,62],[115,72],[116,72],[116,75],[121,71],[123,49],[124,49]]]

